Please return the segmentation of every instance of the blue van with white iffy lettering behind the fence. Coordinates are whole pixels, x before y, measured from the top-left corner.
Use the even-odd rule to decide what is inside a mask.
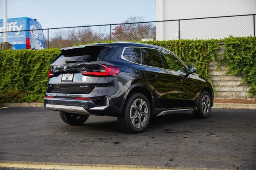
[[[9,18],[7,20],[7,42],[12,49],[45,49],[44,33],[41,24],[32,18]],[[22,31],[30,30],[30,31]],[[3,20],[0,20],[0,43],[4,38]]]

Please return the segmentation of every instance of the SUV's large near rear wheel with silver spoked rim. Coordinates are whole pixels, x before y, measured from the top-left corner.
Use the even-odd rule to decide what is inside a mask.
[[[144,105],[140,105],[139,103],[141,102]],[[117,120],[118,125],[124,132],[139,133],[145,130],[145,128],[148,126],[150,116],[151,107],[147,97],[142,93],[133,93],[127,99],[123,115],[118,117]]]

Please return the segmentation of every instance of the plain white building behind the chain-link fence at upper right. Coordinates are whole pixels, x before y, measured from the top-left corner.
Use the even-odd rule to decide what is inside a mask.
[[[256,0],[156,0],[156,20],[256,14]],[[256,19],[256,16],[255,16]],[[180,20],[180,39],[254,36],[253,16]],[[157,22],[156,40],[178,39],[179,21]]]

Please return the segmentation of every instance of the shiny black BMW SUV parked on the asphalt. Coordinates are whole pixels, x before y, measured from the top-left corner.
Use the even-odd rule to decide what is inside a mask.
[[[46,109],[70,125],[89,115],[117,117],[126,132],[142,132],[152,116],[192,111],[206,118],[210,82],[172,51],[145,43],[114,42],[60,49],[51,63]]]

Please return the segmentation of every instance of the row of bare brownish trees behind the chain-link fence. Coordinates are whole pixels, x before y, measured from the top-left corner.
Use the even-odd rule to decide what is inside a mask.
[[[125,23],[112,29],[112,40],[141,40],[142,38],[156,39],[156,26],[152,23],[143,22],[141,17],[128,18]],[[69,47],[78,44],[94,43],[110,40],[109,26],[63,28],[50,30],[49,47]]]

